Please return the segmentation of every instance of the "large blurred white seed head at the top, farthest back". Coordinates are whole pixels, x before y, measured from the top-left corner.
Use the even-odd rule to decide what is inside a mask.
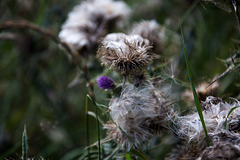
[[[91,48],[106,34],[109,27],[130,13],[128,6],[122,1],[88,0],[75,6],[68,14],[59,37],[72,44],[76,49]]]

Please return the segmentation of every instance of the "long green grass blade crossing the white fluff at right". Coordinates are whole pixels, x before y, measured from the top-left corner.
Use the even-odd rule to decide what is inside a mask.
[[[206,125],[205,125],[205,122],[204,122],[204,118],[203,118],[203,114],[202,114],[201,104],[199,102],[199,99],[198,99],[198,96],[197,96],[197,92],[195,90],[195,87],[194,87],[194,84],[193,84],[193,81],[192,81],[192,78],[191,78],[192,75],[191,75],[191,71],[190,71],[190,66],[189,66],[189,61],[188,61],[188,56],[187,56],[186,45],[185,45],[185,41],[184,41],[184,37],[183,37],[182,28],[181,28],[181,35],[182,35],[182,42],[183,42],[185,62],[186,62],[186,66],[187,66],[189,80],[190,80],[191,87],[192,87],[194,101],[195,101],[195,104],[196,104],[196,107],[197,107],[199,118],[200,118],[202,126],[203,126],[203,130],[204,130],[205,136],[206,136],[207,145],[209,146],[210,145],[209,137],[208,137],[207,128],[206,128]]]

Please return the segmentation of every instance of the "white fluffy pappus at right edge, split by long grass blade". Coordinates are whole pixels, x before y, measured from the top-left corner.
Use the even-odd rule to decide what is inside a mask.
[[[224,130],[224,122],[231,108],[239,106],[240,102],[235,100],[229,104],[223,102],[220,98],[209,96],[202,102],[203,117],[209,136],[214,137],[216,134]],[[240,109],[235,109],[228,117],[227,130],[230,126],[239,123]],[[185,136],[190,141],[201,142],[205,138],[204,130],[198,113],[189,114],[187,116],[178,117],[179,135]]]

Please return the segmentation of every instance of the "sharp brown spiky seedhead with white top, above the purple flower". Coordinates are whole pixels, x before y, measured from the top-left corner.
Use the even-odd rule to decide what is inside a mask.
[[[152,59],[152,46],[147,39],[139,35],[123,33],[108,34],[98,50],[102,64],[124,74],[141,70]]]

